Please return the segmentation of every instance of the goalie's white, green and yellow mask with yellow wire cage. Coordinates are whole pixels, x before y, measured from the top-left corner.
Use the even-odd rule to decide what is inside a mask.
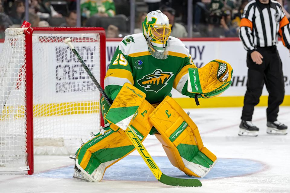
[[[155,58],[166,59],[168,57],[170,33],[169,19],[160,10],[147,14],[143,22],[143,34],[147,40],[149,51]]]

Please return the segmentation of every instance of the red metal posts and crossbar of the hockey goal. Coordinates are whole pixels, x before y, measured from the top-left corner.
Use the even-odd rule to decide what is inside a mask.
[[[24,30],[25,35],[25,65],[26,65],[26,153],[29,170],[27,174],[34,172],[33,154],[33,50],[32,36],[34,33],[42,34],[71,34],[71,33],[98,33],[100,35],[100,85],[104,88],[106,74],[106,36],[102,27],[29,27]],[[101,125],[104,125],[103,119]]]

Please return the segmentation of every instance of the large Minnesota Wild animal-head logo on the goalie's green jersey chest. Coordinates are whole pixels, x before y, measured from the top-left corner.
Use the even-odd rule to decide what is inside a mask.
[[[158,92],[167,85],[167,82],[172,77],[172,72],[163,72],[160,69],[155,70],[152,74],[143,76],[137,82],[146,91]]]

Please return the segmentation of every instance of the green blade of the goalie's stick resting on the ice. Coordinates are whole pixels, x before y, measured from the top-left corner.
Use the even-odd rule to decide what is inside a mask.
[[[198,179],[175,178],[175,177],[166,176],[163,173],[161,175],[161,178],[158,181],[163,184],[171,185],[171,186],[189,186],[189,187],[202,186],[201,182]]]

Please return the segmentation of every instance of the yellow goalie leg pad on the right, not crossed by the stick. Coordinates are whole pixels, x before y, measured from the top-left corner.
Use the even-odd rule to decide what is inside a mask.
[[[203,146],[195,123],[169,96],[150,114],[150,122],[170,162],[185,174],[204,177],[217,162],[217,157]]]

